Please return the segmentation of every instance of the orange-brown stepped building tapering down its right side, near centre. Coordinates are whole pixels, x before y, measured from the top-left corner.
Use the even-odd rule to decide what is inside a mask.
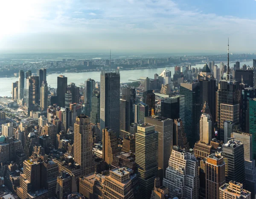
[[[107,162],[108,165],[111,165],[114,156],[119,152],[120,148],[118,148],[116,134],[113,131],[104,128],[102,130],[102,159]]]

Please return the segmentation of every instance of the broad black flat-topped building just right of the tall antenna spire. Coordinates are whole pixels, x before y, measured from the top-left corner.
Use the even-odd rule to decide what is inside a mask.
[[[235,78],[239,83],[242,82],[247,84],[247,87],[253,87],[253,70],[236,70]]]

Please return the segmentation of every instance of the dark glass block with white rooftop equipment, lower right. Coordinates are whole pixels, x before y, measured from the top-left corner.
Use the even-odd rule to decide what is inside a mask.
[[[235,180],[244,184],[244,145],[234,138],[222,145],[222,154],[226,163],[226,182]]]

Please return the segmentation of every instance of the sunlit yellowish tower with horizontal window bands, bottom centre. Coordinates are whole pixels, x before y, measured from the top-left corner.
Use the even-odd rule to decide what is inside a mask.
[[[143,197],[150,198],[158,171],[158,133],[151,125],[137,126],[135,153],[137,173]]]

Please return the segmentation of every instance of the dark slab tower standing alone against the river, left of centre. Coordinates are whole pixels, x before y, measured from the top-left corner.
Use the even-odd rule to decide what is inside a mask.
[[[58,106],[65,106],[65,94],[67,93],[67,77],[60,75],[57,77],[57,96],[58,96]]]

